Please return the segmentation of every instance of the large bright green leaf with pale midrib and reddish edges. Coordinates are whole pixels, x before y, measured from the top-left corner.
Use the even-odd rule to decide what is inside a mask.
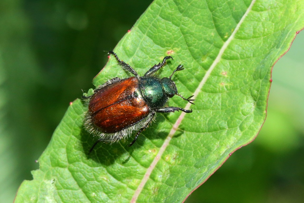
[[[99,143],[83,129],[75,100],[39,158],[34,180],[16,202],[179,202],[258,134],[265,118],[271,70],[304,26],[302,0],[154,1],[115,48],[140,75],[171,55],[161,70],[178,91],[169,106],[193,113],[158,114],[137,139]],[[95,86],[129,75],[113,57]],[[135,133],[134,133],[135,134]]]

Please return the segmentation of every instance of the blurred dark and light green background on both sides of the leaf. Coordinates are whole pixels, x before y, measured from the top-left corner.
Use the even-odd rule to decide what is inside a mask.
[[[152,1],[0,2],[0,202],[12,202],[69,102]],[[304,33],[273,69],[268,116],[186,202],[304,200]]]

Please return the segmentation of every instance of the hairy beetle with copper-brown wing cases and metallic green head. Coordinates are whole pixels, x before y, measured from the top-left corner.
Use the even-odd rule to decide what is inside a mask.
[[[131,146],[140,133],[154,120],[156,113],[179,110],[185,113],[192,112],[192,109],[166,106],[168,98],[174,95],[194,104],[192,102],[194,100],[191,99],[193,95],[186,99],[178,94],[176,85],[171,80],[176,71],[184,69],[182,65],[178,65],[170,77],[160,79],[153,75],[166,64],[168,59],[173,60],[171,56],[164,57],[161,63],[155,64],[144,76],[139,76],[113,51],[109,51],[108,54],[113,55],[118,65],[134,76],[126,79],[118,77],[110,79],[98,86],[92,96],[85,97],[88,107],[84,118],[85,129],[99,138],[94,146],[100,141],[112,143],[128,138],[132,131],[137,131],[133,142],[129,145]]]

